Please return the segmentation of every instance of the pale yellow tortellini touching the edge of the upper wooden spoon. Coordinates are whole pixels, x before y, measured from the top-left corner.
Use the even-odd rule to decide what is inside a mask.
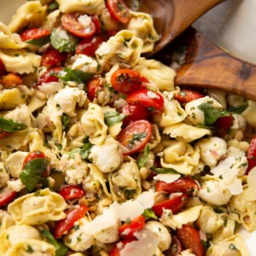
[[[131,11],[127,29],[135,31],[137,38],[143,39],[143,53],[152,51],[154,43],[160,38],[154,29],[152,18],[145,13]]]

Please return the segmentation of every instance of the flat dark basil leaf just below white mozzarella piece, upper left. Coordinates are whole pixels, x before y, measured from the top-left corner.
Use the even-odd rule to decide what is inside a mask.
[[[62,75],[62,73],[64,75]],[[63,72],[54,74],[54,76],[58,79],[65,81],[65,82],[75,81],[75,82],[79,82],[79,83],[86,83],[93,78],[94,74],[93,73],[84,73],[83,71],[73,70],[71,68],[66,67],[63,69]]]

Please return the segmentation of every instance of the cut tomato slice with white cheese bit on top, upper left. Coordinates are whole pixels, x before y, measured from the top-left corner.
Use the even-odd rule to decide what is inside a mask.
[[[82,13],[65,14],[61,17],[61,25],[79,38],[90,38],[96,32],[96,26],[89,15]]]

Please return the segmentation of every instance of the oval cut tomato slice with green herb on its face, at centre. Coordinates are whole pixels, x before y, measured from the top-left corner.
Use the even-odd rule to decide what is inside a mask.
[[[145,148],[152,135],[152,126],[147,120],[138,120],[132,122],[122,130],[117,140],[127,148],[125,155],[134,154]]]

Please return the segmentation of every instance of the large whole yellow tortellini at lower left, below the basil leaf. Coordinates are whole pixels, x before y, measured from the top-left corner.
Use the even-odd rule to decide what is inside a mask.
[[[37,225],[65,218],[66,208],[67,203],[61,195],[42,189],[17,198],[9,204],[8,212],[16,224]]]

